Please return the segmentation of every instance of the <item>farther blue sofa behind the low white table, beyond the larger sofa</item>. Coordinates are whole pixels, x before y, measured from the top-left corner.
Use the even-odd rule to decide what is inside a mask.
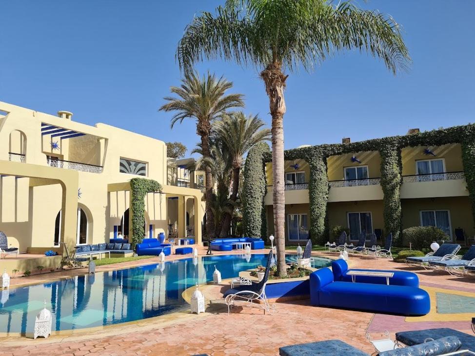
[[[419,278],[415,273],[406,271],[387,271],[387,270],[363,270],[363,269],[348,269],[348,263],[343,259],[336,259],[332,262],[333,280],[341,282],[351,282],[351,276],[348,276],[349,271],[371,271],[371,272],[392,272],[394,276],[389,279],[389,284],[407,287],[419,287]],[[372,276],[357,276],[355,281],[359,283],[373,283],[386,284],[385,277]]]

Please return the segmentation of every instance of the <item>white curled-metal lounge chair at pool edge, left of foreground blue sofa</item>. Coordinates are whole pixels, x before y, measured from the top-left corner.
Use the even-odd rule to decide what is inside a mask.
[[[265,286],[269,279],[270,265],[272,259],[272,251],[267,257],[267,265],[264,273],[264,278],[258,283],[253,282],[251,285],[241,285],[233,289],[228,289],[224,293],[224,302],[228,306],[228,314],[230,308],[235,305],[248,305],[258,307],[268,312],[271,315],[277,313],[276,305],[269,304],[265,295]]]

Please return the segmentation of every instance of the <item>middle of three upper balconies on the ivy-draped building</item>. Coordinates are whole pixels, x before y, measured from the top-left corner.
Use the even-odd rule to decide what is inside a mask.
[[[380,183],[380,178],[329,181],[328,202],[381,200]]]

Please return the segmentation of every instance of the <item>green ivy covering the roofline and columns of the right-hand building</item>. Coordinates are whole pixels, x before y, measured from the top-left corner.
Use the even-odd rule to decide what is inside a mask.
[[[285,151],[286,160],[304,159],[310,166],[309,181],[309,201],[310,201],[310,235],[316,243],[327,240],[328,227],[327,201],[328,201],[328,178],[326,158],[346,153],[356,153],[361,151],[378,151],[381,156],[381,188],[384,193],[384,226],[386,232],[392,232],[395,243],[401,242],[401,200],[400,189],[402,184],[402,163],[401,150],[404,147],[416,146],[439,146],[449,143],[460,143],[462,147],[462,161],[465,172],[465,180],[472,200],[472,216],[475,222],[475,125],[454,126],[446,129],[420,132],[405,136],[394,136],[387,138],[376,138],[361,142],[323,144],[312,147],[296,148]],[[271,161],[270,153],[263,153],[264,162]],[[246,166],[261,167],[260,155],[248,156]],[[257,159],[258,161],[252,162]],[[262,175],[258,178],[256,174]],[[249,176],[252,181],[265,181],[265,171],[253,171]],[[247,184],[246,196],[257,196],[261,192],[258,185],[248,180],[246,171],[244,172],[245,183]],[[260,197],[260,196],[259,196]],[[263,198],[263,197],[262,197]],[[254,203],[257,203],[254,201]],[[246,225],[252,226],[252,231],[258,231],[262,218],[256,218],[251,207],[243,211],[244,231]],[[265,220],[264,220],[265,221]],[[264,235],[261,234],[263,237]]]

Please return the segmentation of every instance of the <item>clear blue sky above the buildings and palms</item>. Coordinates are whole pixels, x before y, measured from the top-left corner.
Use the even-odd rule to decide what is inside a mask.
[[[0,0],[0,100],[74,120],[103,122],[192,148],[195,123],[170,129],[158,112],[180,79],[175,49],[195,14],[224,0]],[[285,147],[405,134],[475,121],[475,1],[369,0],[405,30],[413,58],[394,77],[377,60],[346,53],[287,81]],[[253,68],[197,66],[234,82],[247,113],[270,123]]]

